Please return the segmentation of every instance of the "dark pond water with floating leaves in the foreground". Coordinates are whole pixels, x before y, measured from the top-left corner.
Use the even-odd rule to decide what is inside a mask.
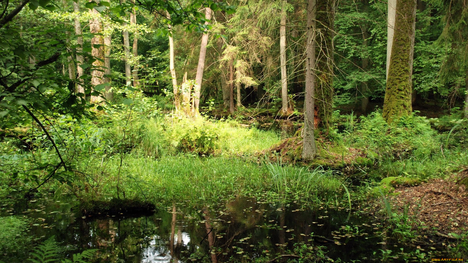
[[[399,244],[372,218],[350,215],[345,209],[301,209],[294,203],[271,204],[238,197],[202,210],[178,204],[146,216],[83,218],[74,211],[75,205],[49,196],[3,206],[1,215],[32,219],[28,232],[33,237],[31,246],[54,235],[69,254],[99,249],[99,262],[156,263],[154,256],[161,253],[171,255],[173,263],[252,262],[278,253],[300,253],[301,246],[314,253],[324,251],[325,258],[341,262],[421,261],[414,255],[415,247]],[[424,250],[420,253],[436,251],[421,247]],[[401,248],[402,253],[413,254],[402,256],[398,254]],[[390,256],[383,256],[382,251]],[[448,256],[445,252],[438,255]],[[19,252],[5,253],[0,259],[24,260]]]

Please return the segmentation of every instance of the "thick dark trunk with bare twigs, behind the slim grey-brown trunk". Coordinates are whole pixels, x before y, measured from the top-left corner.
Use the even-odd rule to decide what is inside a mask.
[[[315,49],[316,73],[315,107],[319,127],[329,128],[333,114],[333,37],[336,0],[316,1],[317,44]]]

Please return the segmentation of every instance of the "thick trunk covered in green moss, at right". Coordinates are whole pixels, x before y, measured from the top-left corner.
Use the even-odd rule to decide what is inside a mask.
[[[412,111],[411,73],[415,22],[416,0],[397,0],[395,30],[382,113],[388,123],[391,123],[394,117],[410,115]]]

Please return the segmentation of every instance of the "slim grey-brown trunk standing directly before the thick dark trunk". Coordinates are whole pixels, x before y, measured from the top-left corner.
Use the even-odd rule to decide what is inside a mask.
[[[304,102],[304,127],[302,130],[302,159],[305,161],[312,161],[317,153],[314,138],[315,4],[316,0],[307,1],[306,98]]]

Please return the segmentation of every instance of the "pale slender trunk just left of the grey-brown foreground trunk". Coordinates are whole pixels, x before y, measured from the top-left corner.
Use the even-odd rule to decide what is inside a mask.
[[[289,110],[286,76],[286,12],[281,13],[281,23],[279,25],[279,60],[281,64],[281,113],[286,114]]]

